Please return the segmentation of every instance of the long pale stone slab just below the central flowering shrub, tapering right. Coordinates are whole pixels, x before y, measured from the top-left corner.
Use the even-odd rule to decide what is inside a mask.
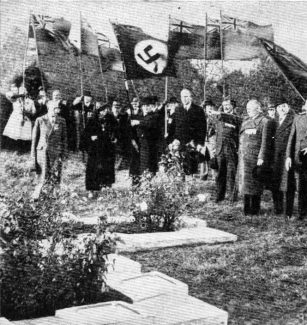
[[[118,243],[118,252],[147,251],[195,244],[219,244],[237,240],[236,235],[209,227],[184,228],[174,232],[117,235],[123,241],[123,243]]]

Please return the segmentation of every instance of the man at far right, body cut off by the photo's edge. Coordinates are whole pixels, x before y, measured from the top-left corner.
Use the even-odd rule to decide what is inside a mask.
[[[286,170],[294,169],[298,184],[299,218],[307,216],[307,102],[292,124],[286,151]]]

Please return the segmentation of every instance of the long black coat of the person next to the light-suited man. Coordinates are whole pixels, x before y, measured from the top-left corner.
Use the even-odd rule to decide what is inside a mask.
[[[80,148],[88,153],[85,187],[99,191],[115,182],[115,145],[117,122],[107,113],[102,119],[91,118],[81,137]]]

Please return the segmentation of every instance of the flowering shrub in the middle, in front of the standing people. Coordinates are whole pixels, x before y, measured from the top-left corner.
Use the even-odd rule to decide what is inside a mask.
[[[180,215],[189,197],[182,162],[177,156],[163,156],[162,170],[144,173],[133,189],[131,211],[143,231],[171,231],[181,225]]]

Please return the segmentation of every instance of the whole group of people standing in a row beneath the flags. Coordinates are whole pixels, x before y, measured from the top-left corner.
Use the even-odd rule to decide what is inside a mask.
[[[299,217],[306,217],[307,105],[295,114],[287,103],[266,110],[251,99],[242,117],[232,99],[220,107],[211,100],[198,106],[190,90],[180,95],[180,101],[172,97],[162,104],[155,96],[135,97],[124,106],[118,100],[94,102],[84,91],[67,104],[59,90],[53,91],[51,100],[41,91],[32,101],[12,85],[7,98],[13,113],[3,135],[31,139],[32,167],[39,175],[34,197],[51,174],[60,181],[69,147],[86,153],[90,197],[112,186],[121,168],[129,169],[134,185],[144,171],[154,175],[162,154],[175,148],[185,153],[186,174],[200,173],[206,180],[212,172],[216,202],[225,199],[228,189],[231,201],[238,193],[243,196],[246,215],[257,215],[267,188],[275,213],[291,217],[297,191]]]

